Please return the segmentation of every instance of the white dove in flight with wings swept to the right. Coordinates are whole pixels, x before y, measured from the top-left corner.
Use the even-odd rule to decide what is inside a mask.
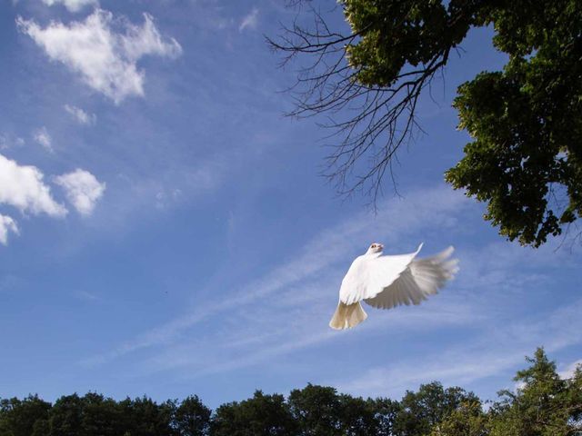
[[[390,309],[400,304],[420,304],[428,295],[452,279],[458,271],[457,259],[450,259],[453,247],[425,259],[415,253],[383,256],[381,243],[373,243],[366,254],[357,256],[349,267],[339,289],[337,309],[329,322],[332,329],[355,327],[367,318],[360,302],[378,309]]]

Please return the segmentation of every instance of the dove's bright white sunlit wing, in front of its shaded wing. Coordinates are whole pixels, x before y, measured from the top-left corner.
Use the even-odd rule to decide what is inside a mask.
[[[362,300],[373,299],[396,282],[400,274],[406,271],[422,243],[415,253],[396,256],[360,256],[352,263],[339,289],[339,300],[353,304]]]

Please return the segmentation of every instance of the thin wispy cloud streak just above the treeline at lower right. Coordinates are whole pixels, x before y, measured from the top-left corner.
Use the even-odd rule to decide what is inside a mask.
[[[351,380],[336,381],[336,384],[342,391],[356,395],[398,397],[420,383],[438,380],[459,385],[485,379],[523,366],[525,356],[531,355],[540,345],[544,345],[547,352],[556,352],[582,343],[582,337],[577,334],[582,330],[582,319],[578,316],[581,310],[582,300],[577,300],[551,312],[543,320],[497,325],[462,348],[367,368]],[[573,362],[560,375],[571,374],[580,362]]]

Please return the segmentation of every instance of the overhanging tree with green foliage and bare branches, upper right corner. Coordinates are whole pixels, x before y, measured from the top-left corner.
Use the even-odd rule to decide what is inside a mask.
[[[300,2],[308,4],[309,2]],[[327,114],[336,148],[326,175],[341,193],[376,195],[397,149],[421,130],[416,104],[474,27],[507,54],[457,89],[472,141],[446,173],[487,203],[507,239],[539,246],[582,215],[582,3],[578,0],[339,0],[351,33],[294,24],[269,44],[304,54],[297,116]],[[355,174],[355,176],[350,176]]]

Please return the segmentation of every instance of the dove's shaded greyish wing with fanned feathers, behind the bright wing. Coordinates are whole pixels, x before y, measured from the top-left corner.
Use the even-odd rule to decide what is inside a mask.
[[[457,272],[457,259],[449,259],[453,247],[425,259],[413,259],[396,280],[365,302],[377,309],[390,309],[400,304],[419,304],[438,292]]]

